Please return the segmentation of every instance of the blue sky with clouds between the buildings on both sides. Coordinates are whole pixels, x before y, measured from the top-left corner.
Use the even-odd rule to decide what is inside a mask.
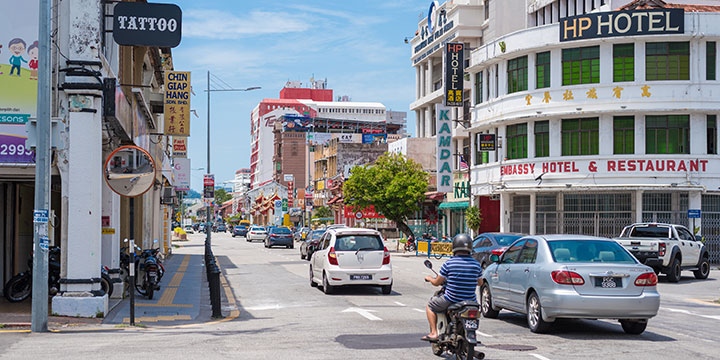
[[[173,49],[176,70],[192,71],[191,107],[200,116],[190,126],[193,168],[207,163],[207,71],[236,88],[213,93],[211,170],[216,182],[250,165],[250,112],[263,98],[277,98],[288,80],[328,80],[334,95],[380,101],[408,112],[415,133],[415,96],[410,45],[418,17],[430,1],[237,1],[174,0],[183,10],[183,39]],[[192,188],[204,171],[193,171]]]

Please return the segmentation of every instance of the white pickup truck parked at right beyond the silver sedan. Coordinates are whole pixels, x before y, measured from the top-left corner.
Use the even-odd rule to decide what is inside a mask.
[[[702,238],[682,225],[632,224],[615,240],[656,273],[666,274],[670,282],[678,282],[682,270],[692,271],[696,279],[710,274],[710,254]]]

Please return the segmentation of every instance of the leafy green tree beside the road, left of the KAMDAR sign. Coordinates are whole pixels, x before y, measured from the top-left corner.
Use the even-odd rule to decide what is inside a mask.
[[[406,222],[420,210],[427,187],[427,173],[420,164],[402,154],[385,153],[374,164],[354,167],[343,192],[345,204],[359,209],[372,205],[411,236]]]

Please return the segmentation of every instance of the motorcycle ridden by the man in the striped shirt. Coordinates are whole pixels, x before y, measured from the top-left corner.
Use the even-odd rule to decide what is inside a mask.
[[[430,260],[425,260],[425,267],[438,276]],[[445,294],[444,284],[435,292],[436,296],[443,294]],[[437,314],[438,339],[432,342],[433,354],[442,356],[447,351],[455,354],[457,359],[484,359],[485,353],[475,350],[475,346],[479,344],[475,334],[479,325],[479,314],[480,304],[475,301],[452,304],[445,313]]]

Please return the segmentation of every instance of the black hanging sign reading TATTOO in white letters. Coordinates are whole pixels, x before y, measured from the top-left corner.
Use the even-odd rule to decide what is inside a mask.
[[[113,10],[113,38],[120,45],[176,47],[182,10],[174,4],[119,2]]]

